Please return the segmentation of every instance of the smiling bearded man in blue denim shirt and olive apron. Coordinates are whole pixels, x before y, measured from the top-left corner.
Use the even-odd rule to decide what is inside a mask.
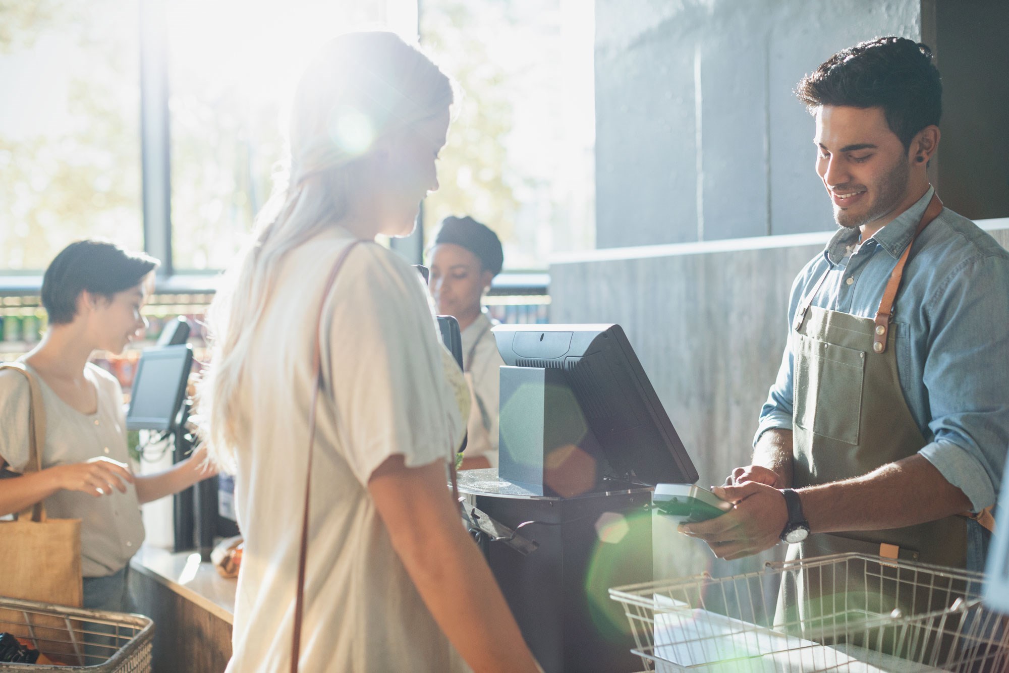
[[[784,540],[789,559],[983,570],[1009,446],[1009,253],[929,185],[938,71],[925,45],[878,38],[831,57],[797,95],[840,228],[792,287],[753,464],[715,489],[736,508],[681,530],[725,559]],[[825,575],[783,580],[778,621],[896,599]],[[927,601],[906,590],[898,604]]]

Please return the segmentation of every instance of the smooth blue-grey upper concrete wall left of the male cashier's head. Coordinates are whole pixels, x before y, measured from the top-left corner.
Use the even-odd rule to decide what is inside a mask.
[[[595,0],[595,19],[600,248],[830,229],[792,89],[921,34],[919,0]]]

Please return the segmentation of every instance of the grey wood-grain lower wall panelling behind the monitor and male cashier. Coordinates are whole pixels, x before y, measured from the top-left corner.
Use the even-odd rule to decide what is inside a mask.
[[[1009,219],[981,223],[1009,248]],[[701,485],[746,465],[787,334],[791,283],[827,233],[596,250],[550,267],[551,322],[624,327]],[[660,522],[656,578],[758,569],[777,549],[736,562]]]

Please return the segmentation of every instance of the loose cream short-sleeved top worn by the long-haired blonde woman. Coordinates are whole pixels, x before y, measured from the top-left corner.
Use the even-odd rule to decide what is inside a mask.
[[[348,234],[334,229],[278,268],[251,333],[239,397],[235,504],[245,551],[228,671],[291,658],[305,493],[312,332]],[[468,671],[397,556],[366,484],[386,458],[453,456],[463,420],[420,274],[373,243],[351,251],[323,318],[301,670]]]

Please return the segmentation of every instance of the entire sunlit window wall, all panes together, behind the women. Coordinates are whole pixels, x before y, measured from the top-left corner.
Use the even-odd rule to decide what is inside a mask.
[[[37,275],[84,236],[164,251],[160,224],[143,240],[139,2],[0,3],[0,91],[16,92],[0,96],[0,275]],[[215,271],[269,196],[282,107],[311,53],[366,27],[414,39],[419,3],[152,4],[163,33],[144,43],[167,44],[173,259],[162,270]],[[592,247],[591,3],[424,0],[420,11],[423,47],[465,92],[425,234],[448,214],[473,215],[498,231],[510,270]]]

